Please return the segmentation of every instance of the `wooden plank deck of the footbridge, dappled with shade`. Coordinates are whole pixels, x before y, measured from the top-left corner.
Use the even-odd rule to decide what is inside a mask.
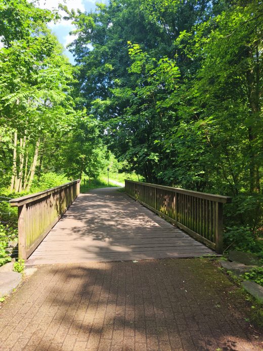
[[[116,188],[80,194],[27,264],[126,261],[214,254]]]

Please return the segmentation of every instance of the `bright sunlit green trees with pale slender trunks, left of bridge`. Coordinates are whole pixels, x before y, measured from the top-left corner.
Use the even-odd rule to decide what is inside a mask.
[[[98,175],[105,158],[98,121],[75,108],[77,70],[47,27],[58,18],[37,2],[0,2],[0,177],[11,192],[53,186],[37,185],[50,172]]]

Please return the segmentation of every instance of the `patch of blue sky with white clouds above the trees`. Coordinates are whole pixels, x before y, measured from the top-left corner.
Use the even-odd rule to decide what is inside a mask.
[[[69,10],[77,9],[81,11],[90,11],[96,8],[96,2],[106,3],[106,0],[38,0],[39,7],[42,9],[57,9],[59,4],[66,5]],[[65,13],[60,11],[63,16]],[[66,49],[66,45],[74,40],[74,37],[69,35],[69,32],[74,29],[70,21],[61,20],[58,23],[50,23],[49,27],[57,35],[58,40],[65,48],[65,54],[68,56],[71,63],[74,63],[73,55]]]

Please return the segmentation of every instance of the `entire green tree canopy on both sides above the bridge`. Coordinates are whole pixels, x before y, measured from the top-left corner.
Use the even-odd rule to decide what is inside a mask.
[[[96,177],[111,151],[147,182],[232,196],[229,235],[260,236],[263,3],[60,7],[75,65],[47,27],[57,11],[0,0],[2,186],[30,191],[50,171]]]

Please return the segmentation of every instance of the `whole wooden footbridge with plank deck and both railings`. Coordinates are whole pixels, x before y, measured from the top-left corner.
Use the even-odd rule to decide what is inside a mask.
[[[79,194],[79,185],[76,180],[10,202],[18,207],[19,257],[27,264],[222,252],[223,204],[231,198],[133,181],[125,181],[126,193]]]

